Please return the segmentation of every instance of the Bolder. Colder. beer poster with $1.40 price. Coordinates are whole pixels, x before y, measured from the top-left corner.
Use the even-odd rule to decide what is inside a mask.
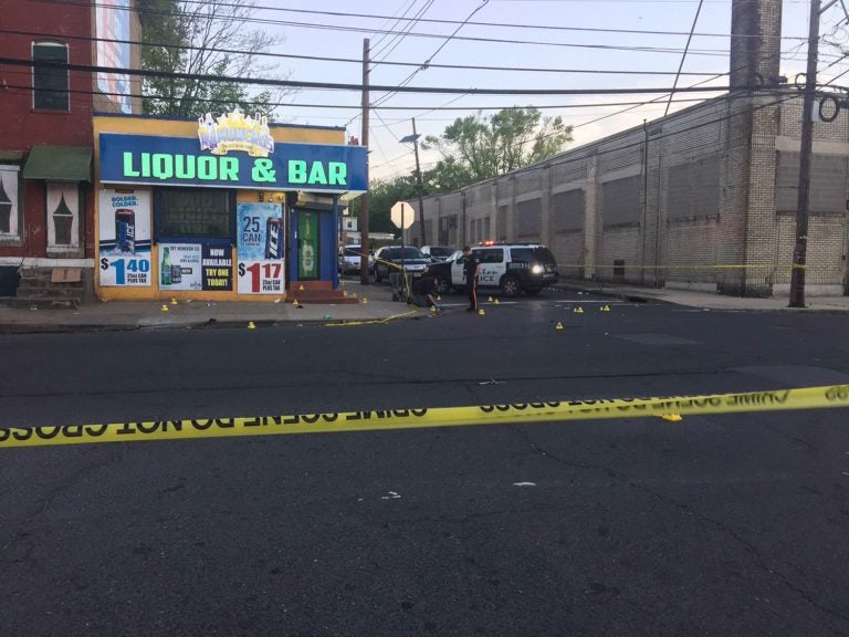
[[[101,285],[151,285],[150,200],[149,190],[101,190],[97,241]]]

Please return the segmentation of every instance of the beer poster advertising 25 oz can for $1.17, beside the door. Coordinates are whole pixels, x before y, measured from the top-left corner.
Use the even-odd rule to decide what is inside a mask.
[[[283,207],[279,203],[239,203],[237,222],[239,294],[283,294]]]

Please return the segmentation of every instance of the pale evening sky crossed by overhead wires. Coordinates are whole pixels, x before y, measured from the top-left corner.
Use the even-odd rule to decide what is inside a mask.
[[[699,0],[371,0],[361,3],[255,0],[255,17],[262,21],[255,25],[279,41],[273,52],[324,59],[272,59],[275,67],[270,72],[290,80],[360,84],[364,40],[368,38],[373,86],[670,87],[682,59],[679,86],[727,82],[724,75],[712,76],[724,74],[729,69],[731,0],[703,0],[700,10]],[[809,7],[808,0],[784,1],[782,73],[790,81],[805,71]],[[684,56],[696,10],[694,35]],[[821,36],[847,43],[845,22],[846,13],[838,2],[821,15]],[[820,81],[849,69],[849,63],[839,61],[840,55],[836,46],[820,43]],[[347,61],[327,61],[327,58]],[[430,65],[422,69],[426,62]],[[436,66],[438,64],[502,69],[442,69]],[[629,73],[607,73],[609,71]],[[849,83],[849,79],[845,83]],[[708,96],[710,94],[679,94],[675,98]],[[599,121],[627,107],[606,104],[656,98],[660,100]],[[280,107],[275,115],[277,121],[292,124],[345,126],[348,135],[361,137],[360,100],[358,91],[302,88],[284,96],[287,105]],[[670,112],[693,103],[673,102]],[[479,113],[489,116],[509,106],[535,106],[543,115],[560,116],[574,126],[574,140],[568,146],[574,148],[641,125],[643,119],[661,117],[667,97],[659,94],[469,95],[373,90],[370,104],[370,177],[390,179],[415,170],[412,146],[399,142],[412,133],[413,117],[419,134],[439,135],[458,117]],[[439,155],[434,150],[422,150],[420,158],[422,170],[427,170]]]

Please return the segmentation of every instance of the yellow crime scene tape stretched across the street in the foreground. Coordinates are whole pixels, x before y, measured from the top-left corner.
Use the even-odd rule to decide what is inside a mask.
[[[0,429],[0,448],[418,429],[426,427],[465,427],[471,425],[572,422],[616,418],[665,418],[670,415],[741,414],[848,406],[849,385],[836,385],[774,391],[672,396],[665,398],[604,398],[563,403],[521,403],[203,420],[10,427]]]

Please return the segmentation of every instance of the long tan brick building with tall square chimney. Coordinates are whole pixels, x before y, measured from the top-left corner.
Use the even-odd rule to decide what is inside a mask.
[[[426,198],[431,242],[539,241],[566,276],[787,293],[801,96],[778,81],[780,17],[780,0],[734,0],[729,94]],[[814,134],[806,290],[847,294],[849,115]]]

